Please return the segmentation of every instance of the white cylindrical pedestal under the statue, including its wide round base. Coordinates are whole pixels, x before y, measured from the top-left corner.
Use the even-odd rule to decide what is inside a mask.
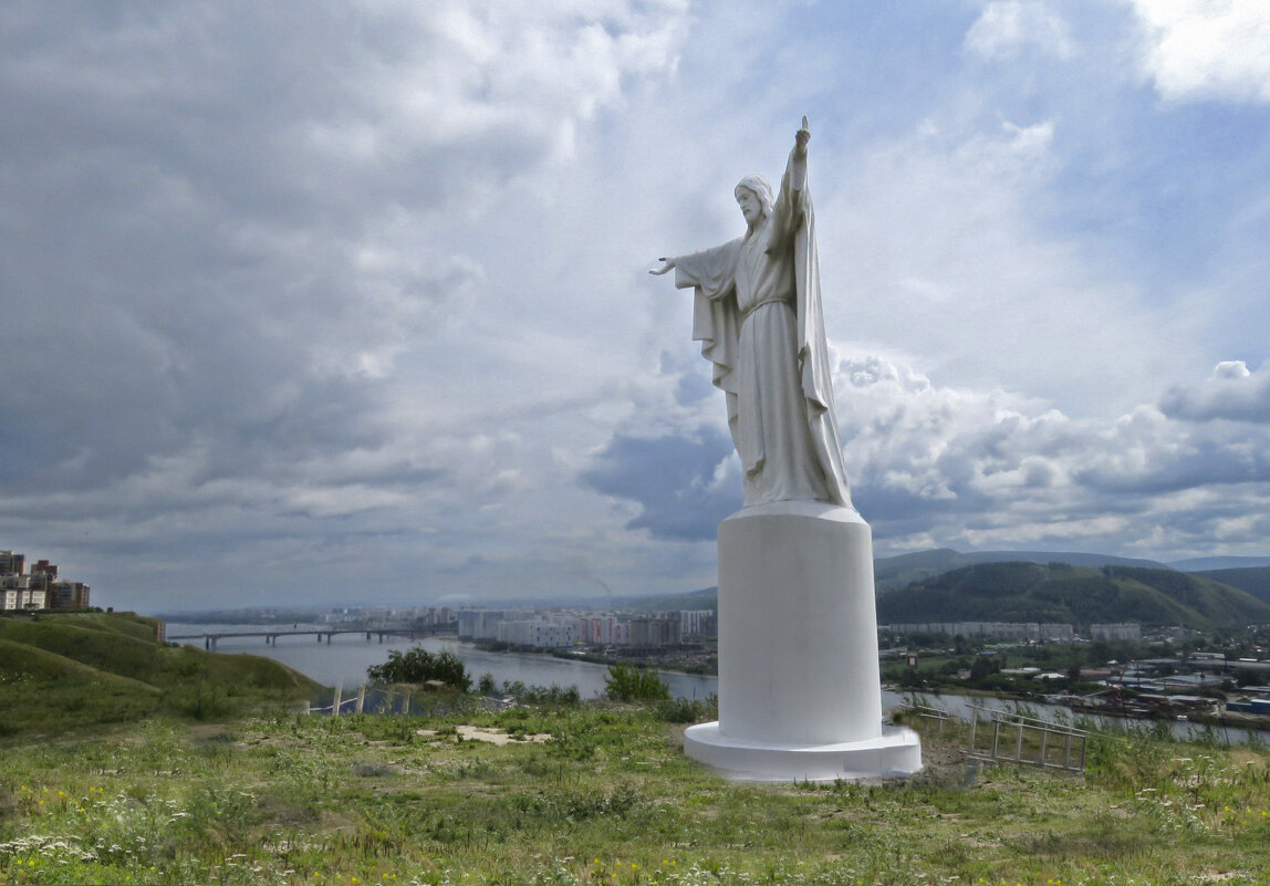
[[[719,722],[685,749],[735,778],[921,769],[916,734],[883,729],[872,534],[855,510],[781,501],[719,524]]]

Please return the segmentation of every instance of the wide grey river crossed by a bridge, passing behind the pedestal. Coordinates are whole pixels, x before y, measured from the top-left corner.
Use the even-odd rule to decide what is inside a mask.
[[[293,628],[284,626],[265,627],[262,625],[188,625],[168,623],[168,636],[180,636],[188,633],[234,633],[243,631],[312,631],[319,628],[331,628],[330,625],[296,625]],[[338,630],[338,628],[337,628]],[[455,640],[408,640],[404,637],[384,637],[378,642],[377,635],[371,632],[371,641],[367,642],[364,633],[343,633],[331,638],[331,642],[318,642],[311,636],[282,637],[276,644],[267,645],[264,637],[225,637],[216,645],[216,651],[225,654],[251,654],[281,661],[288,668],[298,670],[306,677],[311,677],[324,685],[342,685],[347,689],[361,685],[366,682],[366,669],[372,665],[384,664],[389,659],[389,650],[405,651],[418,644],[431,652],[451,650],[467,666],[467,673],[475,682],[481,674],[493,674],[502,685],[519,680],[526,685],[558,685],[561,688],[577,687],[583,698],[598,698],[605,692],[605,675],[608,673],[607,665],[592,661],[569,661],[551,655],[535,655],[532,652],[489,652]],[[183,640],[182,642],[202,646],[202,641]],[[676,698],[707,698],[719,692],[719,678],[706,674],[682,674],[674,670],[660,671],[671,694]],[[890,710],[907,701],[909,696],[900,696],[883,689],[883,710]],[[1015,702],[999,698],[968,697],[942,693],[939,696],[925,696],[923,704],[940,708],[958,717],[970,716],[970,704],[994,710],[1013,711]],[[1072,711],[1060,704],[1026,704],[1030,716],[1041,720],[1069,722]],[[1111,725],[1124,725],[1124,720],[1116,717],[1095,718]],[[1175,737],[1186,739],[1204,734],[1205,727],[1193,722],[1171,722],[1170,727]],[[1218,726],[1219,739],[1237,744],[1260,741],[1270,744],[1270,732],[1246,730],[1241,727]],[[1253,737],[1256,736],[1256,737]]]

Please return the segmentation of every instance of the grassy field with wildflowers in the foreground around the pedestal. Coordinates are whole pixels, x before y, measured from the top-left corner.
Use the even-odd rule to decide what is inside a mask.
[[[1099,739],[1082,779],[972,769],[954,727],[907,783],[757,786],[687,760],[655,710],[597,703],[105,729],[0,740],[0,881],[1270,881],[1255,748]]]

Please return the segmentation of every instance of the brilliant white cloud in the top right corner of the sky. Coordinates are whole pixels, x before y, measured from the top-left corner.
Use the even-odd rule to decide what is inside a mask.
[[[1146,29],[1143,72],[1173,102],[1270,102],[1270,6],[1262,0],[1130,0]]]

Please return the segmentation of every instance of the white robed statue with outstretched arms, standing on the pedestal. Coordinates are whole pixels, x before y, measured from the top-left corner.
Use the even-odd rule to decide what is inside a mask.
[[[780,193],[762,175],[735,189],[745,235],[660,259],[695,289],[692,338],[714,363],[744,470],[745,506],[813,500],[851,506],[833,414],[815,216],[806,188],[806,117]]]

